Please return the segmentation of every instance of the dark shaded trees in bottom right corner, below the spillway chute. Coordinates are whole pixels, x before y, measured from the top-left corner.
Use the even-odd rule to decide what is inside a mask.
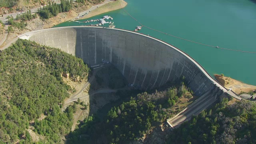
[[[255,144],[256,104],[240,101],[227,105],[224,99],[170,134],[176,144]]]

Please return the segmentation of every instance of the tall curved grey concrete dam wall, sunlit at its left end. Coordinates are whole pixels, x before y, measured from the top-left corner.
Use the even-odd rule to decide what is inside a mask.
[[[130,84],[142,90],[167,81],[185,81],[198,96],[223,88],[192,58],[156,38],[127,30],[102,27],[64,27],[29,32],[23,39],[60,48],[91,66],[106,60],[114,64]],[[217,85],[217,86],[216,86]],[[220,86],[219,86],[220,87]]]

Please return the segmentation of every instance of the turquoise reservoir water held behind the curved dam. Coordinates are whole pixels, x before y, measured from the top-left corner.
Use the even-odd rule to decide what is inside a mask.
[[[124,8],[143,25],[204,44],[256,52],[256,3],[249,0],[126,0]],[[122,9],[109,15],[116,28],[134,30],[139,24]],[[88,19],[87,19],[88,20]],[[81,20],[83,21],[83,20]],[[57,26],[79,26],[64,22]],[[55,26],[56,27],[56,26]],[[223,73],[256,85],[256,54],[234,52],[194,44],[143,27],[139,31],[183,50],[212,76]]]

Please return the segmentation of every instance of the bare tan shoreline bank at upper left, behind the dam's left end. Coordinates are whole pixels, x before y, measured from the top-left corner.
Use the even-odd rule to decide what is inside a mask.
[[[120,6],[121,4],[121,6]],[[0,46],[0,49],[2,49],[6,44],[17,38],[20,34],[24,34],[26,32],[31,32],[34,30],[42,30],[46,28],[52,28],[53,26],[56,26],[58,24],[61,24],[63,22],[67,22],[69,20],[75,20],[76,17],[82,16],[86,12],[88,12],[88,15],[84,16],[83,18],[79,18],[78,20],[82,20],[85,18],[89,18],[92,16],[96,16],[98,14],[102,14],[105,12],[110,12],[112,10],[118,10],[120,8],[123,8],[127,5],[127,3],[124,0],[105,0],[101,4],[90,4],[88,6],[82,6],[79,8],[74,8],[73,10],[70,10],[69,12],[62,12],[58,14],[55,17],[42,20],[41,18],[32,19],[30,21],[27,21],[28,25],[24,30],[18,30],[17,28],[14,28],[15,32],[11,32],[8,34],[8,37],[6,40],[4,40],[3,44]],[[80,9],[80,10],[79,10]],[[91,11],[91,12],[89,12]],[[2,39],[2,38],[1,38]]]

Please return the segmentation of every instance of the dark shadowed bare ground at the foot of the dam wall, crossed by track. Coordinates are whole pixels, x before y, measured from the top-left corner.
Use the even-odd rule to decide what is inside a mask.
[[[122,98],[121,91],[129,90],[128,82],[112,64],[104,64],[92,70],[90,75],[92,81],[88,90],[90,94],[89,116],[98,115],[98,111],[103,107],[105,108],[102,112],[107,113],[112,103]],[[104,115],[102,112],[100,116]]]

